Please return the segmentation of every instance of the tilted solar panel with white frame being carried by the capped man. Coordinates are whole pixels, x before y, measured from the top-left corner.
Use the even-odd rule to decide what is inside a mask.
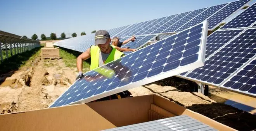
[[[201,32],[198,32],[197,31],[197,29],[201,29]],[[187,31],[191,31],[190,32],[190,35],[188,34],[189,32],[187,32]],[[80,100],[78,100],[78,101],[76,101],[76,99],[70,99],[69,100],[69,98],[71,98],[71,97],[69,97],[69,93],[68,93],[68,91],[70,91],[70,90],[72,90],[72,91],[74,91],[74,89],[75,89],[75,87],[76,86],[78,86],[78,85],[76,85],[76,86],[74,86],[74,84],[79,84],[79,82],[81,82],[81,79],[78,79],[74,84],[72,84],[71,85],[71,87],[69,87],[69,89],[70,90],[67,90],[66,92],[64,92],[58,99],[56,99],[49,107],[57,107],[58,105],[59,106],[64,106],[64,105],[70,105],[70,104],[79,104],[79,103],[85,103],[85,102],[90,102],[90,101],[94,101],[94,100],[96,100],[96,99],[100,99],[100,98],[102,98],[102,97],[106,97],[106,96],[110,96],[110,95],[112,95],[112,94],[116,94],[116,93],[119,93],[119,92],[122,92],[122,91],[126,91],[126,90],[128,90],[128,89],[132,89],[132,88],[134,88],[134,87],[138,87],[138,86],[141,86],[141,85],[144,85],[144,84],[148,84],[149,82],[153,82],[153,81],[157,81],[157,80],[160,80],[160,79],[164,79],[164,78],[166,78],[166,77],[170,77],[170,76],[173,76],[173,74],[180,74],[180,73],[182,73],[182,72],[184,72],[184,71],[189,71],[189,70],[192,70],[192,69],[195,69],[195,68],[197,68],[197,67],[201,67],[201,66],[203,66],[204,65],[204,54],[205,54],[205,49],[206,49],[206,38],[207,38],[207,33],[208,33],[208,22],[207,21],[204,21],[204,22],[202,22],[202,23],[200,23],[200,24],[198,24],[198,25],[195,25],[195,26],[193,26],[193,27],[190,27],[189,29],[187,29],[187,30],[184,30],[183,32],[180,32],[179,34],[175,34],[175,35],[172,35],[172,36],[170,36],[170,37],[168,37],[168,38],[166,38],[166,39],[164,39],[164,40],[162,40],[162,41],[160,41],[159,43],[154,43],[154,44],[152,44],[152,45],[149,45],[148,47],[145,47],[145,48],[142,48],[142,49],[140,49],[140,50],[137,50],[136,52],[133,52],[133,53],[131,53],[131,54],[129,54],[129,55],[126,55],[125,57],[121,57],[120,59],[118,59],[118,60],[114,60],[113,62],[110,62],[110,63],[108,63],[108,64],[106,64],[106,65],[104,65],[104,66],[101,66],[101,67],[111,67],[111,66],[113,66],[113,67],[115,67],[115,65],[117,65],[117,64],[119,64],[120,62],[122,62],[122,61],[120,61],[120,60],[124,60],[124,62],[126,61],[126,60],[130,60],[130,58],[132,58],[132,56],[134,55],[134,57],[136,56],[137,57],[137,59],[138,59],[138,56],[142,53],[142,51],[145,49],[145,53],[147,53],[147,51],[152,51],[152,52],[154,52],[154,51],[157,51],[157,50],[162,50],[163,49],[163,51],[164,50],[166,50],[166,48],[160,48],[160,49],[158,49],[158,48],[152,48],[154,45],[156,46],[156,47],[159,47],[159,46],[164,46],[164,44],[165,44],[165,40],[168,40],[168,41],[166,41],[166,43],[170,43],[170,40],[171,41],[177,41],[177,42],[180,42],[180,40],[185,40],[186,39],[186,41],[188,42],[188,43],[191,43],[192,42],[192,40],[194,41],[194,40],[200,40],[200,43],[198,43],[197,45],[193,45],[192,47],[198,47],[199,46],[199,50],[197,50],[196,52],[194,52],[195,54],[197,54],[196,56],[197,56],[197,58],[195,59],[195,61],[193,60],[193,61],[190,61],[189,63],[183,63],[184,65],[182,65],[182,63],[180,63],[179,61],[182,61],[182,60],[189,60],[189,59],[191,59],[191,57],[190,56],[193,56],[194,57],[194,53],[193,52],[189,52],[189,51],[191,51],[190,49],[193,49],[190,45],[187,45],[187,44],[185,44],[186,45],[186,47],[187,47],[187,49],[185,49],[185,50],[187,50],[188,52],[186,53],[186,55],[187,56],[182,56],[183,58],[187,58],[187,59],[178,59],[178,60],[176,60],[176,61],[178,61],[179,62],[179,66],[178,67],[174,67],[173,68],[173,63],[169,63],[169,66],[168,66],[168,69],[166,69],[166,71],[161,71],[161,72],[159,72],[159,73],[157,73],[157,75],[156,74],[152,74],[152,73],[150,73],[152,76],[148,76],[147,78],[142,78],[141,79],[141,77],[140,76],[138,76],[137,77],[137,79],[133,79],[133,77],[135,78],[136,77],[136,74],[135,74],[135,76],[131,76],[132,77],[132,79],[130,78],[130,77],[128,77],[128,78],[130,78],[130,80],[128,81],[128,84],[122,84],[122,85],[120,85],[120,86],[118,86],[118,88],[116,88],[116,87],[114,87],[114,90],[113,89],[110,89],[109,91],[105,91],[105,90],[103,90],[104,92],[101,92],[100,94],[95,94],[94,95],[94,97],[91,97],[91,96],[89,96],[89,97],[86,97],[86,99],[80,99],[80,97],[78,98],[78,99],[80,99]],[[200,36],[199,36],[199,34],[200,34]],[[186,36],[187,35],[187,36]],[[173,42],[171,42],[171,43],[173,43]],[[178,50],[176,50],[176,49],[179,49],[179,47],[182,47],[183,48],[183,46],[185,47],[185,45],[179,45],[179,44],[176,44],[176,43],[173,43],[174,45],[172,46],[171,45],[171,49],[173,49],[173,50],[171,50],[172,51],[172,53],[178,53],[178,52],[176,52],[176,51],[178,51]],[[151,47],[151,48],[150,48]],[[148,50],[149,49],[149,50]],[[154,49],[154,50],[152,50],[152,49]],[[183,49],[183,52],[185,52],[185,50]],[[194,50],[194,49],[193,49]],[[159,51],[158,51],[159,52]],[[170,52],[170,51],[167,51],[167,52]],[[182,52],[182,54],[183,54],[183,52]],[[149,54],[143,54],[142,56],[148,56]],[[190,53],[192,53],[192,54],[190,54]],[[164,54],[164,53],[161,53],[161,54]],[[156,57],[158,57],[158,55],[156,55]],[[151,57],[150,57],[151,58]],[[163,58],[163,59],[165,59],[165,57],[163,57],[163,56],[161,56],[161,58]],[[162,60],[160,57],[159,57],[159,59],[158,60]],[[168,57],[166,57],[166,58],[168,58]],[[134,63],[136,63],[136,60],[137,59],[135,59],[135,60],[132,60],[131,59],[131,61],[130,62],[134,62]],[[138,59],[139,61],[140,61],[140,59]],[[156,59],[154,59],[154,60],[156,60]],[[172,59],[171,59],[172,60]],[[129,62],[129,61],[128,61]],[[130,65],[128,62],[125,62],[125,64],[128,64],[128,65]],[[143,61],[144,62],[144,61]],[[155,61],[156,62],[156,61]],[[155,63],[155,62],[152,62],[152,64],[153,63]],[[174,61],[175,62],[175,61]],[[183,62],[185,62],[185,61],[183,61]],[[187,62],[187,61],[186,61]],[[142,62],[139,62],[138,64],[140,64],[140,63],[142,63]],[[161,63],[161,62],[160,62]],[[147,63],[145,63],[145,64],[147,64]],[[150,63],[149,63],[150,64]],[[156,62],[156,68],[154,68],[153,70],[154,71],[156,71],[156,69],[157,69],[157,64],[159,64],[159,61],[157,61]],[[170,65],[171,64],[171,65]],[[135,64],[132,64],[131,65],[131,69],[129,68],[129,70],[131,70],[131,71],[133,71],[132,70],[132,68],[133,68],[133,66],[134,66]],[[162,66],[166,66],[166,65],[168,65],[168,64],[166,64],[166,62],[165,62],[165,64],[164,65],[162,65]],[[138,65],[139,66],[139,65]],[[85,75],[85,77],[86,76],[88,76],[89,75],[89,78],[88,78],[88,80],[89,79],[94,79],[94,77],[96,77],[97,75],[97,73],[95,74],[95,76],[92,76],[92,78],[90,78],[90,74],[94,74],[95,73],[95,70],[97,70],[97,69],[102,69],[101,67],[98,67],[98,68],[96,68],[96,69],[94,69],[94,70],[92,70],[92,71],[89,71],[89,72],[86,72],[84,75]],[[118,67],[118,66],[116,66],[116,67]],[[135,66],[135,67],[137,67],[137,66]],[[134,67],[134,68],[135,68]],[[171,69],[169,69],[171,67]],[[122,68],[123,69],[123,68]],[[138,69],[138,68],[137,68]],[[118,71],[119,71],[119,69],[117,69]],[[152,71],[153,71],[152,70]],[[121,69],[120,69],[120,71],[121,71]],[[126,70],[125,70],[126,71]],[[151,70],[149,70],[149,71],[151,71]],[[122,71],[123,72],[123,71]],[[127,74],[129,71],[127,71],[125,74]],[[145,72],[148,72],[147,70],[145,70]],[[164,72],[164,73],[163,73]],[[138,71],[137,73],[140,73],[140,71]],[[156,72],[154,72],[154,73],[156,73]],[[99,73],[98,73],[99,74]],[[109,72],[106,72],[106,74],[109,74]],[[141,74],[141,73],[140,73]],[[121,75],[121,74],[120,74]],[[101,75],[100,75],[101,76]],[[101,78],[101,77],[100,77]],[[87,79],[87,78],[86,78]],[[112,79],[116,79],[116,77],[112,77]],[[113,82],[113,80],[112,79],[109,79],[109,80],[111,80],[111,81],[107,81],[107,83],[108,82],[111,82],[110,84],[108,84],[108,85],[106,85],[106,84],[104,84],[104,85],[106,85],[107,87],[109,87],[109,85],[111,85],[111,84],[113,84],[112,82]],[[119,79],[119,78],[118,78]],[[107,79],[106,79],[107,80]],[[122,79],[123,80],[123,79]],[[127,79],[128,80],[128,79]],[[133,80],[135,80],[134,82],[133,82]],[[100,80],[99,80],[100,81]],[[132,81],[132,82],[131,82]],[[90,81],[89,80],[89,82],[87,82],[88,83],[88,86],[92,86],[92,84],[90,85],[90,83],[91,83],[92,81]],[[95,84],[97,84],[97,82],[98,81],[94,81],[95,82]],[[100,82],[103,82],[103,81],[100,81]],[[104,82],[105,82],[105,80],[104,80]],[[83,83],[84,84],[84,83]],[[81,84],[81,87],[83,86],[83,84]],[[95,85],[95,84],[93,84],[93,85]],[[102,84],[102,83],[101,83]],[[103,85],[102,84],[102,85]],[[86,85],[85,85],[86,86]],[[114,85],[112,85],[112,86],[114,86]],[[112,87],[111,86],[111,87]],[[98,86],[97,86],[98,87]],[[86,88],[86,87],[85,87]],[[85,89],[84,88],[84,86],[81,88],[81,89]],[[104,87],[102,87],[102,88],[104,88]],[[98,88],[99,89],[99,88]],[[105,89],[105,88],[104,88]],[[108,88],[106,88],[106,89],[108,89]],[[76,89],[75,89],[76,90]],[[72,93],[72,92],[71,92]],[[73,92],[73,94],[74,93],[77,93],[77,92]],[[79,93],[79,92],[78,92]],[[88,93],[88,92],[87,92]],[[94,93],[94,92],[92,92],[92,93]],[[70,95],[72,95],[72,94],[70,94]],[[63,96],[63,97],[62,97]],[[83,96],[83,97],[85,97],[84,95],[81,95],[81,96]],[[95,96],[97,96],[97,97],[95,97]],[[100,96],[100,97],[99,97]],[[66,98],[66,97],[69,97],[68,99],[64,99],[64,98]],[[75,97],[76,97],[76,94],[75,94]],[[64,99],[64,101],[62,101],[62,99]],[[73,97],[74,98],[74,97]],[[70,102],[68,102],[68,101],[71,101],[71,103]],[[74,102],[73,102],[74,101]],[[56,103],[55,103],[56,102]],[[66,104],[65,104],[66,103]]]

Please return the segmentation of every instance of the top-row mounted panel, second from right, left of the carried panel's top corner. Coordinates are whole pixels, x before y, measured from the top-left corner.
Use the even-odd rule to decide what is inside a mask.
[[[218,12],[225,5],[227,5],[227,3],[209,7],[207,10],[205,10],[204,12],[199,14],[197,17],[190,20],[187,24],[185,24],[182,27],[180,27],[179,29],[175,30],[175,32],[180,32],[181,30],[187,29],[189,27],[192,27],[193,25],[196,25],[196,24],[206,20],[208,17],[210,17],[214,13]]]

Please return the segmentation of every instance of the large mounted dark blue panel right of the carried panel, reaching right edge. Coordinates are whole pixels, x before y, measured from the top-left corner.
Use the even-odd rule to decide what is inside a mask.
[[[256,29],[247,29],[212,55],[205,66],[186,75],[192,81],[219,86],[256,54]]]

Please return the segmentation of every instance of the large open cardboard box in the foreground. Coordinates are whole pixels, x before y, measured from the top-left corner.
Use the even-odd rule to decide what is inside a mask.
[[[204,124],[234,131],[157,95],[90,102],[0,115],[0,131],[99,131],[185,114]]]

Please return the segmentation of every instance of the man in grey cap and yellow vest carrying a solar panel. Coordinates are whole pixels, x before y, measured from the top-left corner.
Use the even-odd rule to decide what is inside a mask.
[[[96,69],[97,67],[103,66],[113,60],[123,57],[125,54],[116,50],[110,45],[111,38],[109,32],[106,30],[99,30],[95,33],[95,45],[91,45],[85,52],[78,56],[76,66],[78,74],[76,80],[84,77],[83,76],[83,60],[91,58],[90,70]],[[96,70],[95,70],[96,71]],[[120,99],[123,97],[130,97],[129,91],[123,91],[118,94],[114,94],[108,97],[104,97],[97,101],[108,100],[108,99]]]

